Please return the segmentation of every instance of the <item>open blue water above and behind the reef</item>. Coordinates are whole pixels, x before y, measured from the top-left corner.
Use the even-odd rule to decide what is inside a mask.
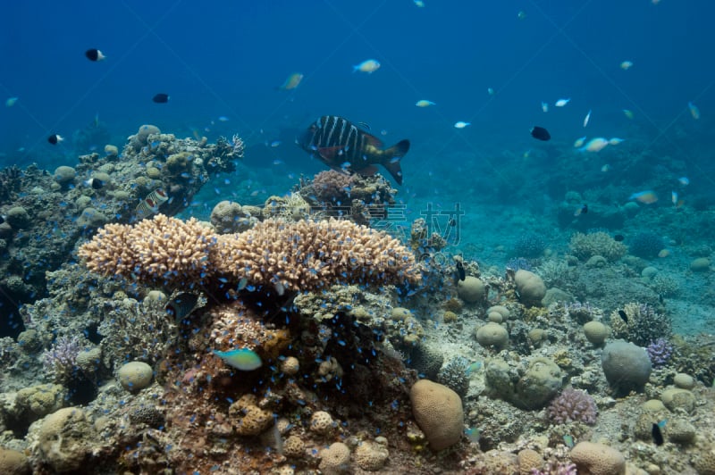
[[[424,8],[411,0],[75,1],[3,10],[0,95],[19,97],[0,107],[3,165],[54,170],[105,144],[51,146],[51,133],[71,137],[98,120],[122,146],[153,123],[211,141],[238,133],[248,146],[280,138],[280,146],[248,153],[246,165],[275,187],[269,191],[284,192],[299,173],[323,169],[292,138],[317,116],[340,114],[384,131],[387,145],[411,139],[403,199],[484,200],[470,185],[475,173],[509,179],[525,166],[523,154],[541,150],[526,173],[543,176],[556,166],[552,155],[574,154],[584,135],[638,140],[641,151],[685,161],[698,177],[691,190],[707,196],[713,185],[715,4],[704,0],[425,0]],[[89,62],[90,47],[106,61]],[[353,72],[368,58],[382,68]],[[629,71],[619,67],[626,60]],[[291,72],[305,75],[300,86],[275,90]],[[168,104],[152,103],[159,92],[171,96]],[[571,102],[554,107],[561,97]],[[420,109],[419,99],[437,105]],[[472,125],[458,130],[456,121]],[[536,124],[551,142],[529,136]],[[607,158],[587,166],[596,173]],[[230,185],[218,180],[216,195],[245,186],[240,173]]]

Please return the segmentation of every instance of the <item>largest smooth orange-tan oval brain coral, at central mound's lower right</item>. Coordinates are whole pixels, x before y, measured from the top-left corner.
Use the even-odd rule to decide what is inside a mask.
[[[449,387],[420,379],[409,390],[417,425],[434,450],[458,443],[464,426],[462,400]]]

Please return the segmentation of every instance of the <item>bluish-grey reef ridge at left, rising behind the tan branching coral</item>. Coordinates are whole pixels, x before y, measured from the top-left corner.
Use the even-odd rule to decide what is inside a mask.
[[[0,173],[0,323],[17,314],[19,304],[46,296],[45,271],[58,269],[71,257],[75,243],[109,221],[130,222],[139,216],[137,204],[156,189],[167,200],[156,209],[180,212],[215,173],[232,171],[242,148],[223,141],[180,139],[142,126],[130,136],[121,154],[81,155],[72,173],[50,174],[31,165]],[[172,158],[169,161],[170,157]],[[167,162],[181,162],[170,170]],[[65,165],[66,166],[66,165]],[[181,169],[181,170],[180,170]],[[101,187],[84,180],[97,179]],[[13,325],[19,333],[21,326]],[[14,336],[14,334],[13,334]]]

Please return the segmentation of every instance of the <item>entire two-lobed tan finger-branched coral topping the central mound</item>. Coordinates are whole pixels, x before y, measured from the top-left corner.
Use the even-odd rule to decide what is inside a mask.
[[[109,224],[79,254],[90,271],[173,288],[246,279],[281,293],[420,278],[414,255],[400,241],[339,220],[269,220],[240,234],[216,235],[193,218],[159,214],[134,226]]]

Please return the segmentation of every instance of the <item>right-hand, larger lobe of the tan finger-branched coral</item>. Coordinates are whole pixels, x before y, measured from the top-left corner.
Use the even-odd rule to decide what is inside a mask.
[[[400,241],[350,221],[263,221],[219,236],[213,254],[219,273],[290,290],[419,279]]]

